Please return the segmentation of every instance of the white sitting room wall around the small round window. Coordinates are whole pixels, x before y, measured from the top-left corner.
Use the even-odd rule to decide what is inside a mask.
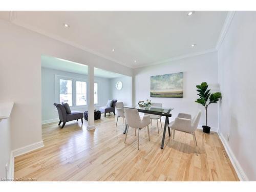
[[[116,89],[117,81],[123,83],[121,90]],[[132,77],[122,76],[111,79],[111,98],[117,99],[117,102],[123,102],[124,105],[132,105]]]

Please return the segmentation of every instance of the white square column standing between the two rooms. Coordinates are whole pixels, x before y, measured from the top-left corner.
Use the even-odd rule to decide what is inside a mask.
[[[88,66],[88,125],[87,130],[94,130],[94,67]]]

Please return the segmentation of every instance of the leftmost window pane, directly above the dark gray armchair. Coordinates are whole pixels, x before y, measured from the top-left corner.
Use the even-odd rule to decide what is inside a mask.
[[[59,79],[59,102],[72,106],[72,80]]]

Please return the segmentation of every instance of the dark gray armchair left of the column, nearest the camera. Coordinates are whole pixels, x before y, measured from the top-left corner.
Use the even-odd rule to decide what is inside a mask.
[[[61,129],[65,126],[66,122],[69,121],[73,121],[73,120],[77,120],[83,118],[83,113],[80,111],[71,111],[71,114],[68,114],[65,110],[65,108],[62,106],[62,104],[58,104],[58,103],[54,103],[54,105],[56,106],[57,110],[58,110],[58,114],[59,114],[59,124],[61,122],[63,122]],[[83,123],[83,122],[82,122]]]

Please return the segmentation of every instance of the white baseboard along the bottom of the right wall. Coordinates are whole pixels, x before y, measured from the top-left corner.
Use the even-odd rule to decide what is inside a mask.
[[[238,178],[240,179],[240,181],[249,181],[248,177],[246,176],[246,174],[244,173],[244,170],[242,169],[240,163],[238,162],[236,156],[234,156],[231,148],[229,147],[228,142],[226,141],[226,139],[224,138],[224,136],[222,135],[222,133],[219,131],[218,135],[221,139],[221,142],[227,152],[227,155],[234,167],[234,170],[236,170],[236,173],[238,175]]]

